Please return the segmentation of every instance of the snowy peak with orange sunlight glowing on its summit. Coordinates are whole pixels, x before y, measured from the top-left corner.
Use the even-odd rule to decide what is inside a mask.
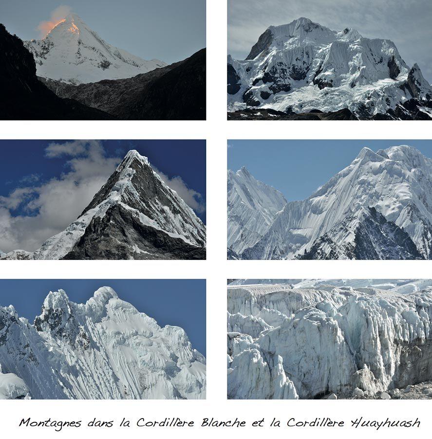
[[[38,76],[71,84],[131,78],[167,65],[108,44],[76,14],[68,14],[42,40],[24,45],[35,58]]]

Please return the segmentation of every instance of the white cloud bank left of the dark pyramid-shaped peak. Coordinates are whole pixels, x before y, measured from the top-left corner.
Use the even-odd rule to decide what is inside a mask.
[[[98,140],[50,143],[48,158],[66,158],[66,171],[0,197],[0,248],[34,251],[75,220],[121,158],[107,158]],[[19,210],[17,215],[16,210]]]

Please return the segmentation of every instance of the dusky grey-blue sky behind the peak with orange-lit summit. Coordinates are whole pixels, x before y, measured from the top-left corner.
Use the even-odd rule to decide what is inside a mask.
[[[1,1],[0,22],[23,40],[38,39],[39,23],[59,6],[108,43],[146,60],[172,63],[206,46],[206,0]]]

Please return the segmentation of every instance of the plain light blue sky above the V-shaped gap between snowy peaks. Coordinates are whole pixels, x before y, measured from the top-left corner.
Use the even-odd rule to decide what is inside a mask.
[[[246,166],[286,200],[303,200],[348,166],[364,146],[377,151],[403,144],[432,158],[432,140],[228,140],[228,169]]]

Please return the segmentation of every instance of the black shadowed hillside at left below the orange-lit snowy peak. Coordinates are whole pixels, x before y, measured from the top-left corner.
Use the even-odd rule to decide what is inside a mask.
[[[72,99],[60,99],[36,76],[32,54],[0,24],[0,119],[86,120],[112,116]]]

